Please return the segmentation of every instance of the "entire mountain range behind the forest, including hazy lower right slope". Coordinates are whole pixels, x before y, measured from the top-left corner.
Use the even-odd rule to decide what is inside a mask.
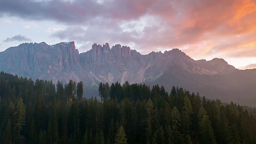
[[[256,106],[256,69],[238,70],[225,60],[193,60],[178,49],[142,55],[130,47],[93,44],[80,53],[74,42],[48,45],[24,43],[0,52],[0,71],[33,80],[66,83],[83,81],[86,87],[100,82],[173,85],[199,92],[207,98],[220,98]]]

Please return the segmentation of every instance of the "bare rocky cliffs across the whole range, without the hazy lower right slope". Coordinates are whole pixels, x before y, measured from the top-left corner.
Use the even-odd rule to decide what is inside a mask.
[[[116,44],[93,44],[79,54],[74,42],[48,45],[45,42],[23,43],[0,52],[0,68],[4,72],[32,79],[68,82],[84,81],[86,86],[99,82],[142,83],[157,79],[173,67],[198,74],[227,74],[236,70],[223,59],[195,61],[178,49],[142,55],[130,47]]]

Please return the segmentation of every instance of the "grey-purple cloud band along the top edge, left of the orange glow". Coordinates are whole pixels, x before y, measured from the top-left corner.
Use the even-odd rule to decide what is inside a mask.
[[[18,16],[32,20],[55,20],[67,24],[87,23],[93,18],[110,18],[116,20],[136,19],[148,11],[154,1],[151,0],[62,0],[40,1],[32,0],[2,0],[0,1],[0,16]]]

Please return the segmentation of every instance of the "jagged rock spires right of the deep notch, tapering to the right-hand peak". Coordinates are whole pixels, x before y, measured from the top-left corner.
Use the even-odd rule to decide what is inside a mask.
[[[109,44],[94,44],[88,52],[81,53],[80,64],[92,80],[92,85],[99,82],[130,83],[151,81],[173,66],[198,74],[227,74],[236,70],[234,66],[218,61],[195,61],[178,49],[151,52],[142,55],[130,47],[116,44],[110,49]],[[209,66],[209,65],[212,65]]]

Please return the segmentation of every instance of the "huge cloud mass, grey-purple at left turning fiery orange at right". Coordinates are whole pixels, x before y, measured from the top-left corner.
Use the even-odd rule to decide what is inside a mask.
[[[254,0],[255,1],[255,0]],[[170,1],[170,0],[0,0],[0,17],[15,16],[28,20],[53,20],[68,26],[67,29],[55,32],[54,38],[76,41],[81,45],[95,42],[129,44],[133,43],[142,50],[156,48],[177,48],[184,45],[200,44],[208,40],[221,40],[234,35],[246,36],[255,31],[256,12],[239,14],[240,7],[254,6],[252,1],[228,0],[213,2],[212,0]],[[236,7],[236,5],[240,7]],[[246,7],[247,8],[247,7]],[[253,9],[249,7],[248,9]],[[232,13],[231,13],[232,12]],[[135,30],[134,21],[144,20],[146,16],[154,16],[152,25],[146,23],[144,30]],[[240,17],[239,17],[240,16]],[[156,19],[158,18],[158,19]],[[237,19],[234,19],[237,18]],[[124,22],[131,22],[127,32],[120,27]],[[86,27],[86,28],[82,28]],[[144,26],[144,25],[143,25]],[[252,39],[252,37],[247,37]],[[212,47],[226,52],[238,48],[235,45],[218,42]],[[144,49],[142,49],[144,48]],[[150,49],[150,50],[149,50]],[[196,48],[195,48],[196,49]],[[243,56],[255,54],[244,50]],[[229,54],[230,52],[226,52]],[[237,53],[238,54],[238,53]],[[236,56],[236,53],[232,56]],[[241,56],[241,52],[239,52]]]

